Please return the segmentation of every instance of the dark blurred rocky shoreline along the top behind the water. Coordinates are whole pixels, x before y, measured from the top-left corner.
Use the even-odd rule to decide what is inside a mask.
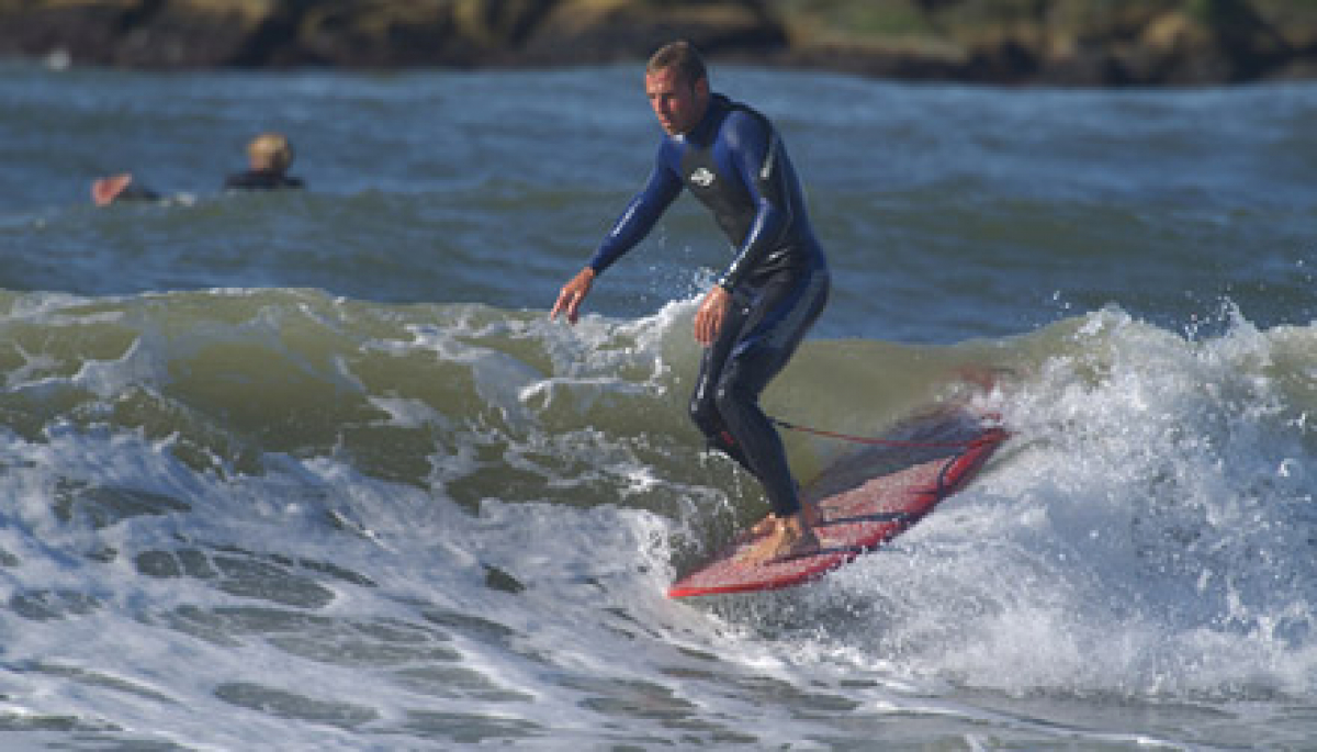
[[[0,57],[144,70],[711,58],[1010,86],[1317,78],[1312,0],[0,0]]]

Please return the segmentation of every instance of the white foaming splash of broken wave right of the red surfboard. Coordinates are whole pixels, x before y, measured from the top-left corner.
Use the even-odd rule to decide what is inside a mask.
[[[1014,444],[898,556],[811,591],[826,643],[1009,691],[1306,695],[1314,336],[1112,308],[994,342]]]

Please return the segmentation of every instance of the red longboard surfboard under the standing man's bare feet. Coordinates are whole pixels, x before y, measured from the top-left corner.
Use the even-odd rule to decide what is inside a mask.
[[[753,543],[741,535],[712,560],[678,578],[669,598],[753,593],[819,578],[901,535],[979,473],[1008,433],[990,416],[939,408],[902,421],[863,450],[834,464],[802,491],[823,522],[819,553],[765,564],[739,557]]]

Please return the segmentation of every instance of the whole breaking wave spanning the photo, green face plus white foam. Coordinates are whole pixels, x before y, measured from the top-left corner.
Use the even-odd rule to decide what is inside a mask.
[[[474,570],[508,591],[552,587],[552,560],[632,619],[681,623],[677,606],[631,593],[661,593],[763,514],[684,415],[694,307],[569,328],[539,311],[312,290],[5,294],[0,491],[18,511],[0,551],[40,560],[67,536],[137,551],[137,570],[157,576],[208,551],[278,564],[277,598],[315,608],[327,572],[387,577],[336,553],[346,535],[439,547],[445,579]],[[1014,437],[894,549],[815,586],[695,607],[819,661],[968,686],[1310,691],[1314,338],[1237,316],[1197,340],[1108,308],[947,346],[811,340],[769,412],[873,436],[972,399]],[[855,450],[785,439],[806,481]],[[300,549],[320,557],[287,553]],[[271,587],[224,582],[229,595]],[[33,608],[83,603],[38,585]]]

